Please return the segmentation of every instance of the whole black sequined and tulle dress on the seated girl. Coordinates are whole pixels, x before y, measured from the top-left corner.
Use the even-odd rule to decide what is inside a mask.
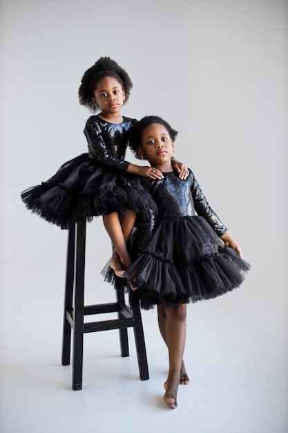
[[[133,209],[142,215],[153,210],[140,177],[127,174],[124,160],[128,131],[135,119],[106,122],[91,116],[84,129],[88,153],[61,165],[48,181],[21,192],[26,207],[50,223],[69,228],[94,216]]]

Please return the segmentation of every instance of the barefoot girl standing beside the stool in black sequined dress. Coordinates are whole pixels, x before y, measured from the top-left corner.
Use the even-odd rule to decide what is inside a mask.
[[[183,363],[186,304],[233,290],[249,270],[193,172],[189,169],[182,180],[173,170],[176,136],[177,131],[156,116],[146,116],[131,131],[129,145],[135,156],[148,160],[162,178],[142,179],[157,205],[157,219],[151,219],[148,229],[140,225],[134,241],[138,255],[124,273],[131,288],[139,291],[142,308],[157,305],[160,333],[169,351],[164,402],[173,409],[178,385],[189,383]]]

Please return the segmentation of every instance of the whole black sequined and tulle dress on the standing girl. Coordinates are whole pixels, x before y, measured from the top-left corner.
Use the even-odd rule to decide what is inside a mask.
[[[125,274],[137,287],[142,308],[217,297],[240,286],[249,270],[236,250],[224,246],[220,236],[227,228],[189,171],[186,181],[176,172],[163,173],[162,181],[142,179],[158,215],[137,230],[138,257]]]

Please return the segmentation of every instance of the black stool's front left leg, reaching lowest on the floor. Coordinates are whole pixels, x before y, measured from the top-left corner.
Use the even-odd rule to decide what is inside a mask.
[[[82,389],[86,221],[77,223],[76,239],[72,385],[74,390]]]

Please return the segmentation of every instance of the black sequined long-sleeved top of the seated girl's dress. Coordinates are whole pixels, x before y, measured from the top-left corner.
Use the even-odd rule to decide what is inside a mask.
[[[84,129],[88,141],[88,154],[90,158],[97,159],[103,165],[126,172],[130,163],[123,160],[128,141],[128,129],[131,122],[115,125],[107,122],[102,127],[97,116],[91,116]]]

